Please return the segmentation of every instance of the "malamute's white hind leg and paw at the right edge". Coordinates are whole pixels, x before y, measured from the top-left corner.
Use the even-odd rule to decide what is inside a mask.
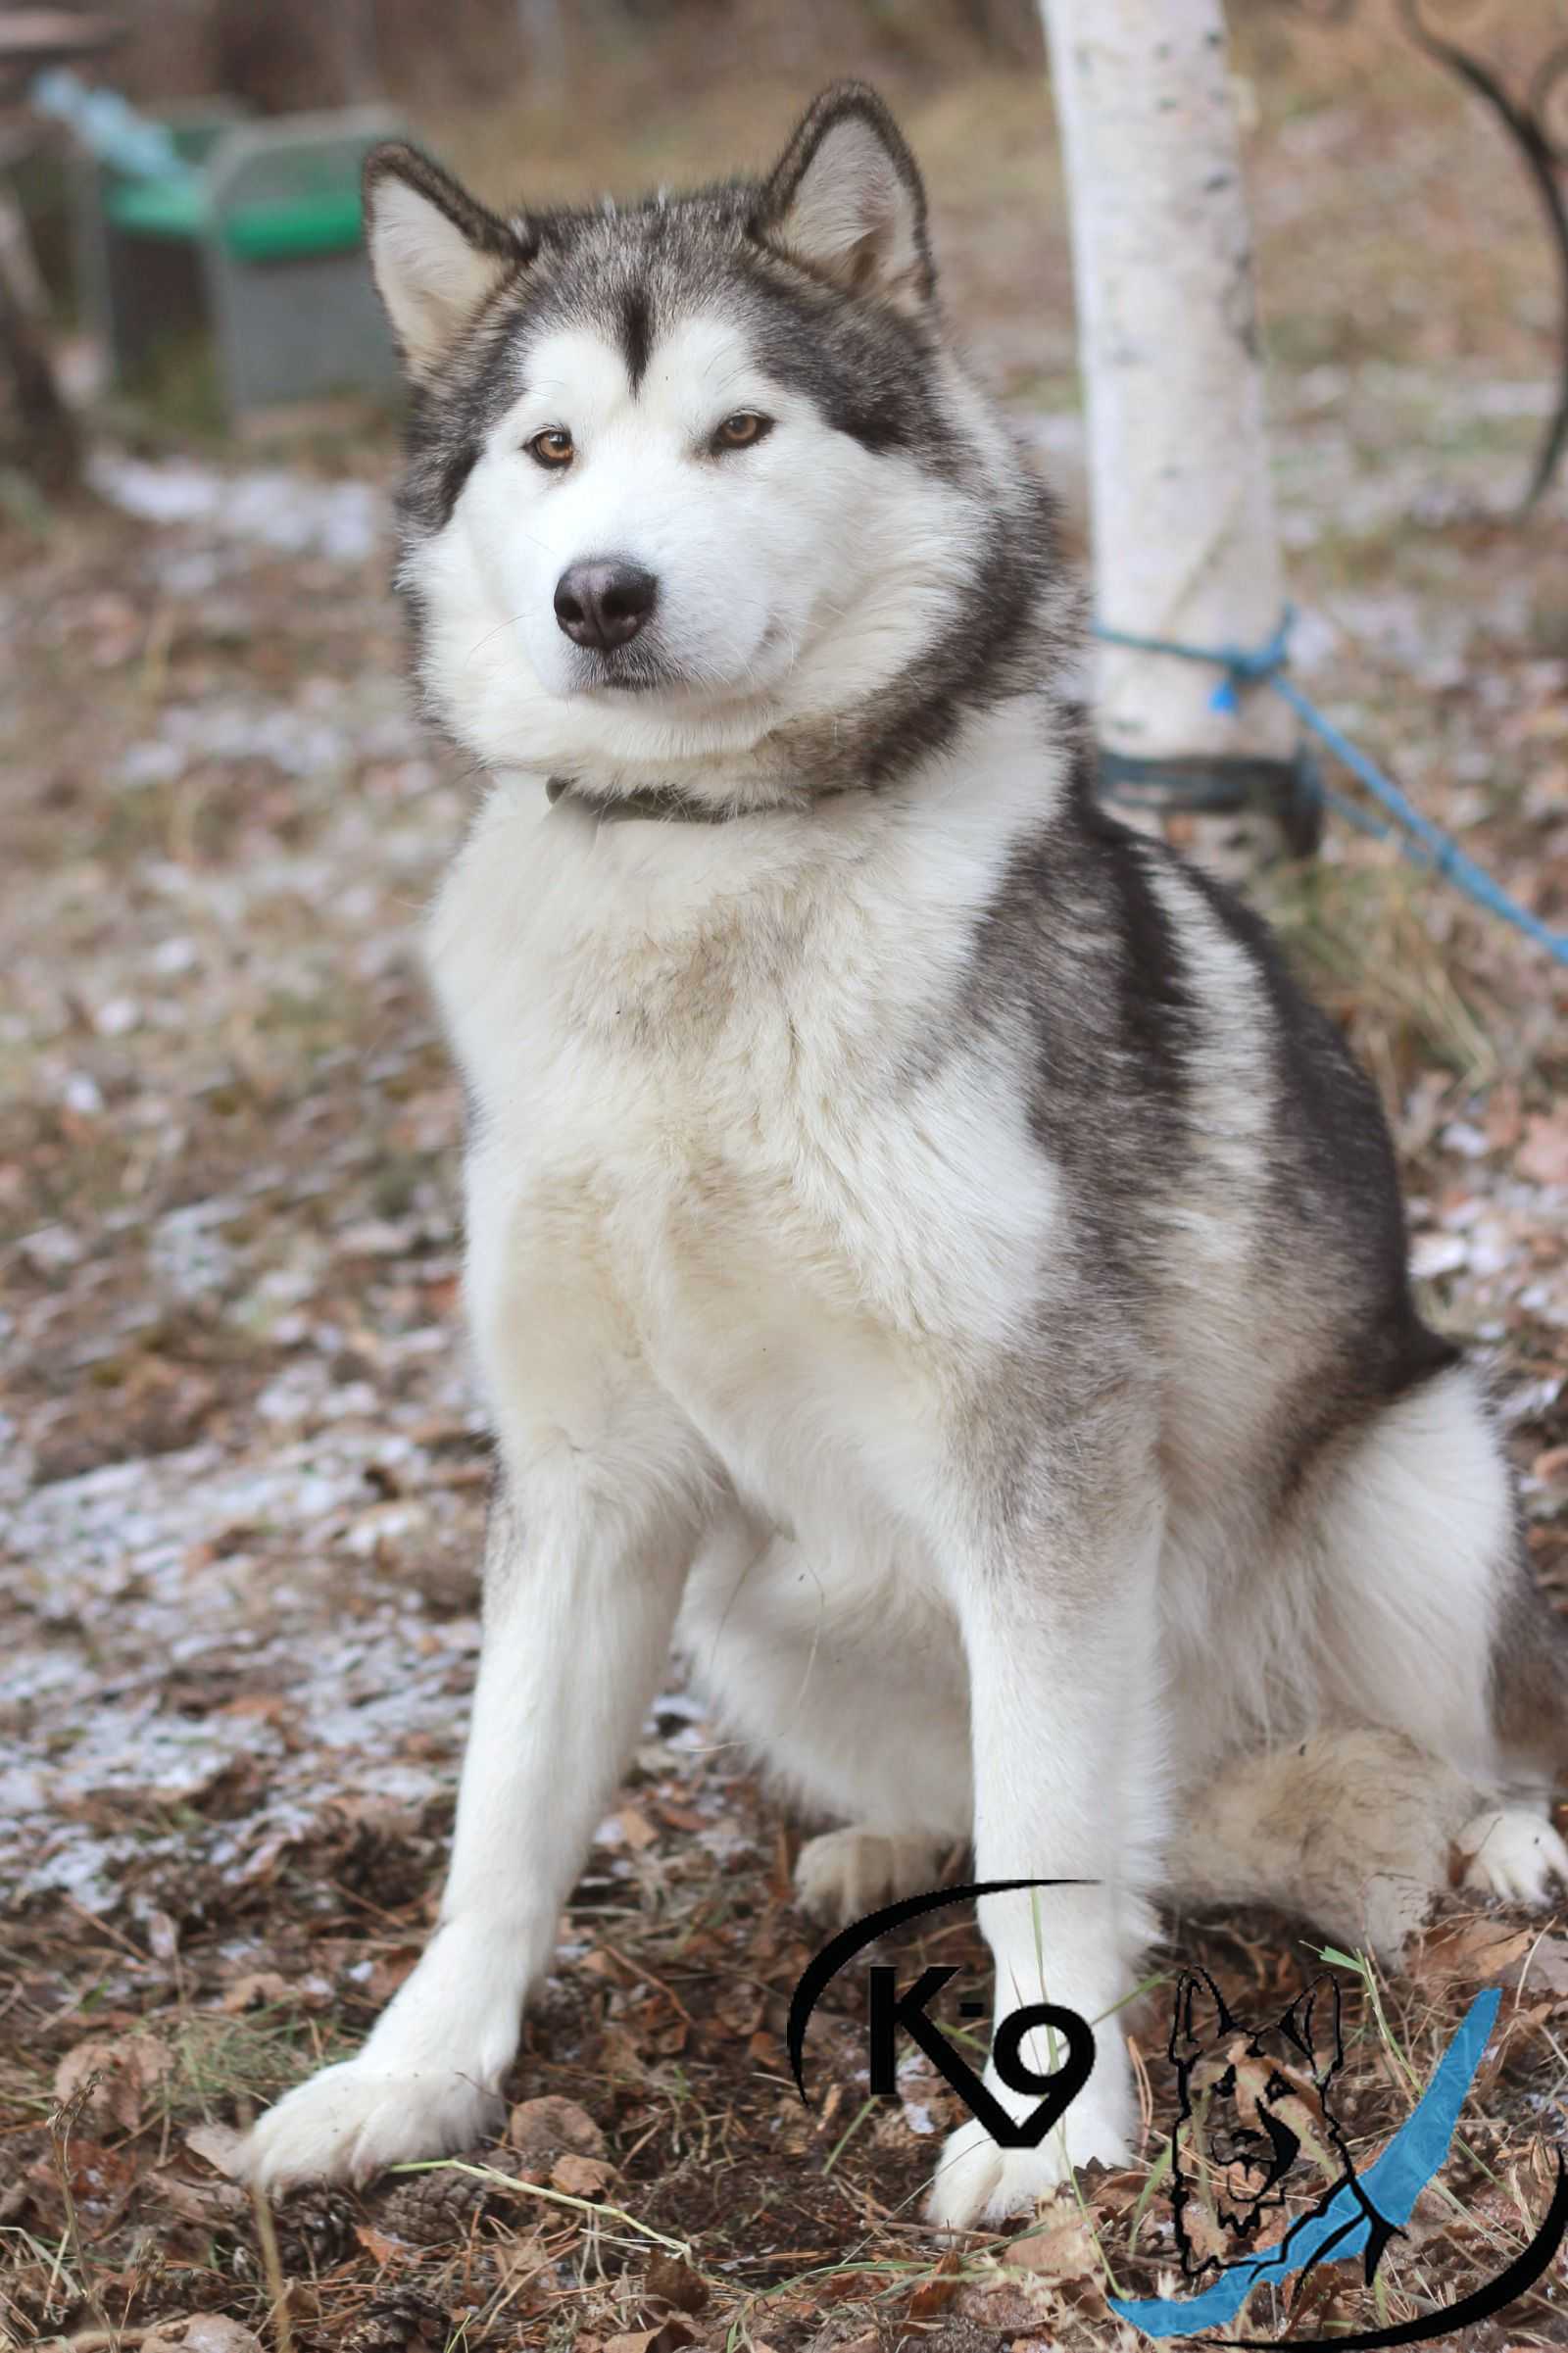
[[[1455,1826],[1467,1882],[1547,1901],[1568,1880],[1549,1821],[1568,1762],[1563,1635],[1530,1584],[1474,1374],[1450,1367],[1387,1405],[1304,1508],[1323,1715],[1439,1760],[1474,1791]]]

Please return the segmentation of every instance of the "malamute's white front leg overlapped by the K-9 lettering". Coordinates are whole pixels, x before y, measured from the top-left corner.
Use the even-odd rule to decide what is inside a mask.
[[[1151,1927],[1142,1889],[1158,1845],[1161,1508],[1151,1480],[1097,1501],[1097,1527],[1088,1513],[1048,1511],[1045,1525],[982,1537],[954,1581],[970,1671],[975,1878],[1088,1882],[982,1897],[996,2033],[1017,2009],[1074,2009],[1095,2028],[1095,2066],[1036,2148],[998,2146],[979,2118],[951,2134],[928,2205],[946,2228],[1026,2212],[1074,2165],[1128,2153],[1132,2082],[1114,2012]],[[1050,2075],[1067,2049],[1036,2024],[1017,2057]],[[1015,2120],[1038,2108],[996,2059],[984,2085]]]

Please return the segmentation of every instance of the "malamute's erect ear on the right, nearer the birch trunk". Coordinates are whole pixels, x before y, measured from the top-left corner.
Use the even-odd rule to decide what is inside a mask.
[[[932,299],[921,172],[864,82],[822,92],[763,188],[753,228],[850,294],[909,311]]]

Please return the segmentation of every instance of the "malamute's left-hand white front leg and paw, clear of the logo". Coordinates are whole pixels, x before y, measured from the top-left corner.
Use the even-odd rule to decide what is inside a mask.
[[[697,1508],[560,1445],[499,1497],[440,1920],[358,2059],[247,2141],[266,2186],[365,2181],[478,2139],[560,1906],[657,1692]]]

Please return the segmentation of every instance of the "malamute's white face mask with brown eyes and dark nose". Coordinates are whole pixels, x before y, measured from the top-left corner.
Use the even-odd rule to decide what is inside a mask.
[[[417,569],[438,692],[490,760],[744,746],[909,659],[954,508],[720,320],[636,391],[591,327],[549,334]]]

